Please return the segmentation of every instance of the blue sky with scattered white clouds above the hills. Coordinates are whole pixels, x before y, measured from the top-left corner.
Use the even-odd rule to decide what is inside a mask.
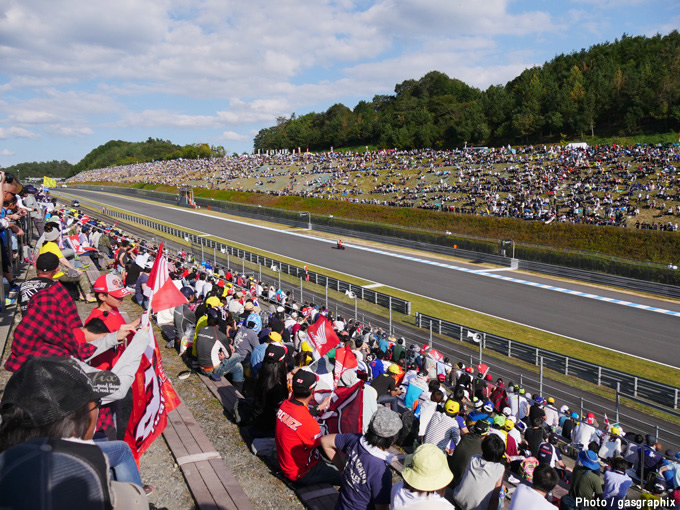
[[[677,0],[0,0],[0,166],[149,137],[250,152],[277,117],[441,71],[486,89]]]

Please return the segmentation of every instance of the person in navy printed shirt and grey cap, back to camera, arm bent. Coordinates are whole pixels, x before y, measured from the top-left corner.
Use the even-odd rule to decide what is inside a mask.
[[[389,508],[393,456],[387,450],[401,428],[399,414],[381,407],[373,415],[365,435],[330,434],[321,438],[321,446],[331,461],[340,460],[338,452],[346,457],[337,510]]]

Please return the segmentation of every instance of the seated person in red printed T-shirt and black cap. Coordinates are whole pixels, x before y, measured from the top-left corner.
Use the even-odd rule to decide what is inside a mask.
[[[276,413],[276,454],[281,471],[298,485],[340,485],[340,472],[321,459],[317,449],[321,429],[309,411],[318,377],[301,368],[292,379],[293,396],[284,400]]]

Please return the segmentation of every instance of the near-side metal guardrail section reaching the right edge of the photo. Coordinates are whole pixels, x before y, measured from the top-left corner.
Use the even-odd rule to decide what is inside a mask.
[[[678,408],[680,390],[667,384],[637,377],[625,372],[596,365],[588,361],[571,358],[540,347],[518,342],[483,331],[471,329],[462,324],[445,321],[422,313],[416,313],[416,325],[430,329],[433,333],[455,340],[479,344],[481,348],[500,352],[511,358],[540,365],[571,377],[576,377],[598,386],[618,389],[622,395],[644,399],[666,407]],[[475,335],[478,334],[478,337]],[[476,341],[478,340],[478,341]]]

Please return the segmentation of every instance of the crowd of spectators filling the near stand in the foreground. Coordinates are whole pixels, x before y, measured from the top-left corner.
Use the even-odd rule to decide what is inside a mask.
[[[46,220],[37,275],[19,289],[22,316],[5,364],[13,375],[0,404],[0,500],[22,498],[19,481],[27,478],[39,497],[45,482],[31,474],[60,456],[77,473],[65,490],[83,486],[82,498],[142,508],[144,490],[153,488],[143,486],[119,439],[120,404],[145,335],[119,308],[128,295],[140,312],[148,306],[157,247],[82,213],[53,209]],[[59,233],[54,241],[51,232]],[[91,288],[67,274],[82,272],[66,248],[74,236],[96,251],[104,271]],[[58,251],[49,246],[56,239],[65,241]],[[294,487],[338,486],[337,508],[495,509],[516,486],[510,508],[548,509],[558,484],[567,492],[563,505],[586,498],[618,508],[634,481],[646,489],[643,498],[680,507],[679,456],[656,437],[624,433],[619,424],[598,428],[594,413],[582,416],[494,378],[485,365],[454,364],[429,346],[298,302],[254,274],[213,268],[181,250],[168,266],[187,303],[155,316],[167,349],[194,372],[227,378],[245,396],[238,424],[259,450],[275,450],[280,476]],[[91,301],[90,292],[96,307],[83,324],[75,300]],[[323,356],[311,333],[319,326],[327,340],[339,339]],[[340,394],[354,419],[329,433]],[[396,448],[409,453],[401,463]],[[82,469],[87,462],[96,479]],[[393,484],[395,465],[403,481]]]

